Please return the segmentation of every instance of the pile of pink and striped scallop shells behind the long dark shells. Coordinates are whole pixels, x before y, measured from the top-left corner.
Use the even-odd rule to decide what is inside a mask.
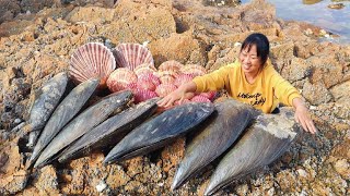
[[[108,87],[112,93],[129,89],[136,103],[164,97],[206,73],[201,65],[184,65],[175,60],[165,61],[156,69],[150,50],[139,44],[119,44],[112,51],[101,44],[86,44],[73,52],[69,68],[75,83],[100,77],[100,88]],[[214,95],[214,91],[201,93],[184,102],[211,102]]]

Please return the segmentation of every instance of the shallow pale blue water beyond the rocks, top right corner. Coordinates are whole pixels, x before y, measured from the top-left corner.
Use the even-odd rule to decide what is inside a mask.
[[[242,3],[252,0],[242,0]],[[303,21],[319,26],[327,32],[339,35],[329,38],[335,42],[350,44],[350,1],[332,2],[331,0],[267,0],[276,7],[277,17]],[[335,1],[335,0],[334,0]],[[337,0],[336,0],[337,1]],[[339,1],[339,0],[338,0]],[[342,3],[342,9],[329,9],[329,4]]]

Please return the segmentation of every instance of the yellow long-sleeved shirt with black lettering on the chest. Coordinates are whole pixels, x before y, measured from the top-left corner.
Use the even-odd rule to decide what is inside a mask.
[[[279,102],[292,106],[292,100],[301,97],[269,60],[253,84],[247,82],[238,61],[192,81],[197,85],[197,93],[224,88],[232,98],[252,105],[264,113],[271,113]]]

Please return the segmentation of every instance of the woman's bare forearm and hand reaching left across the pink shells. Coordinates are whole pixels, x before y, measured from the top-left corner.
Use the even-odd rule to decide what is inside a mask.
[[[188,98],[188,96],[194,96],[194,93],[196,91],[197,86],[194,82],[188,82],[183,85],[180,85],[176,90],[172,91],[167,96],[165,96],[163,99],[158,101],[159,107],[167,108],[173,106],[173,103],[177,100],[179,100],[179,103],[184,101],[184,99]]]

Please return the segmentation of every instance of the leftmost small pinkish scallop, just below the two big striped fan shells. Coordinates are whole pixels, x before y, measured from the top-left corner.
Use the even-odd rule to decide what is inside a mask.
[[[138,76],[127,68],[119,68],[110,73],[107,79],[108,89],[113,93],[129,89],[133,83],[138,82]]]

